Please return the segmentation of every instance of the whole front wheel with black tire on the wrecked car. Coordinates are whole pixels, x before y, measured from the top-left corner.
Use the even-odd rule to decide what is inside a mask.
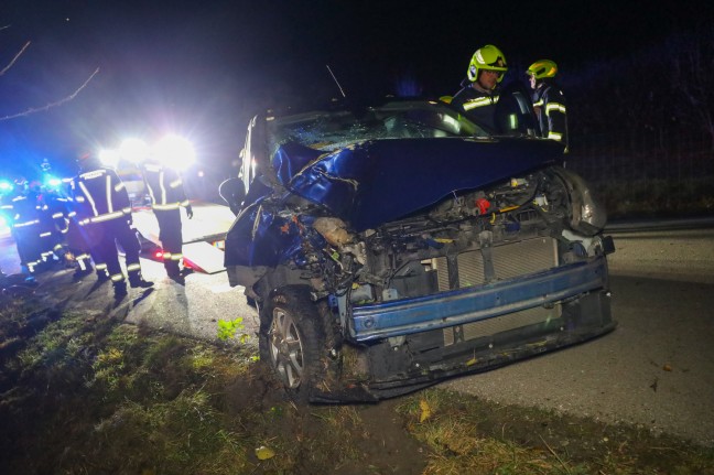
[[[260,359],[296,402],[309,402],[313,388],[327,377],[328,342],[335,338],[326,328],[307,288],[278,289],[260,309]]]

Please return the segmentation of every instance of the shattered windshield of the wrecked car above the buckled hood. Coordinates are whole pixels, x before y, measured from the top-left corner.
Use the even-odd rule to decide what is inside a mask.
[[[329,152],[368,140],[488,137],[452,109],[429,101],[393,102],[359,112],[313,111],[275,118],[267,126],[271,151],[288,142]]]

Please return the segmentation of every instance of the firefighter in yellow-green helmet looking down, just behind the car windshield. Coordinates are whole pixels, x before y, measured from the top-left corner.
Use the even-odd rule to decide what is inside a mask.
[[[499,48],[493,44],[479,47],[468,64],[462,89],[451,99],[451,105],[473,122],[495,132],[498,85],[507,71],[506,56]]]

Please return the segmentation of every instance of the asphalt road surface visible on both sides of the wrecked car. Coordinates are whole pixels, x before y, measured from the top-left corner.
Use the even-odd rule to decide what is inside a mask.
[[[714,445],[714,229],[614,237],[613,314],[619,325],[613,333],[441,386]],[[13,265],[11,245],[0,240],[6,272]],[[225,272],[196,272],[180,285],[161,263],[142,259],[142,267],[154,288],[132,289],[118,303],[110,284],[97,285],[94,277],[74,282],[72,271],[63,269],[40,276],[36,292],[56,306],[98,319],[113,315],[214,342],[218,320],[242,317],[242,332],[255,335],[256,312],[242,289],[228,285]],[[255,337],[247,342],[256,343]]]

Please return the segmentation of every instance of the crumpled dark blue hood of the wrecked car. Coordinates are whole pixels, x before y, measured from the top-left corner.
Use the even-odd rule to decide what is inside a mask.
[[[452,192],[508,180],[559,159],[562,145],[544,139],[392,139],[328,154],[289,143],[272,164],[283,186],[361,231]]]

